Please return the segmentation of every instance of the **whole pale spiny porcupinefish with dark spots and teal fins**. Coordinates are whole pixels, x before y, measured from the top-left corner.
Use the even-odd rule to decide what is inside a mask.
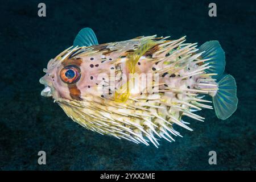
[[[199,121],[202,108],[227,119],[236,111],[236,81],[224,73],[218,41],[184,43],[170,37],[140,36],[98,44],[83,28],[73,46],[49,60],[40,78],[42,96],[52,97],[69,118],[86,129],[134,143],[169,142],[185,129],[183,116]],[[212,101],[203,98],[212,97]]]

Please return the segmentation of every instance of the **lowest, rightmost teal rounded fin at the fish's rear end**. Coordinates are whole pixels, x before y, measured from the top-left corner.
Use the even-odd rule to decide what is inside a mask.
[[[226,75],[218,82],[218,91],[213,97],[218,118],[227,119],[237,110],[237,85],[233,76]]]

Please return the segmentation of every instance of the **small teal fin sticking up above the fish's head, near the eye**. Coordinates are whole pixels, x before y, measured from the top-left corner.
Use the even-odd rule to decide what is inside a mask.
[[[73,42],[73,46],[79,47],[88,47],[94,45],[98,45],[98,40],[91,28],[82,28],[82,30],[79,31]]]

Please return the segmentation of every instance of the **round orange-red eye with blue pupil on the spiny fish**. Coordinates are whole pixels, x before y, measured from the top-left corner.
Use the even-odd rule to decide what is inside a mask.
[[[68,65],[60,71],[60,78],[67,84],[73,84],[79,81],[81,71],[76,65]]]

